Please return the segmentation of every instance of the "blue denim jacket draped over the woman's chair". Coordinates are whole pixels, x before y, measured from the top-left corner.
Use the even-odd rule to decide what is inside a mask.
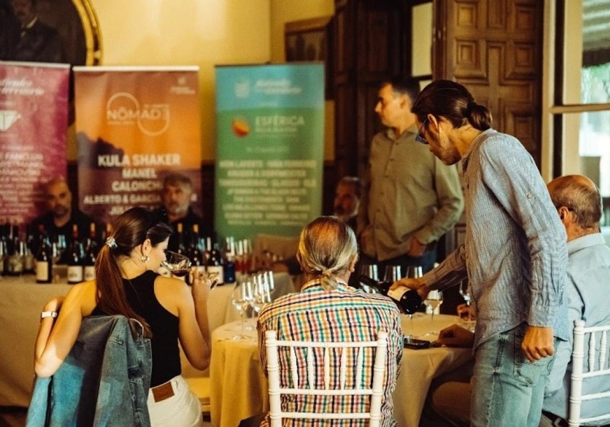
[[[150,340],[126,317],[84,318],[56,373],[35,380],[26,426],[148,427],[151,368]]]

